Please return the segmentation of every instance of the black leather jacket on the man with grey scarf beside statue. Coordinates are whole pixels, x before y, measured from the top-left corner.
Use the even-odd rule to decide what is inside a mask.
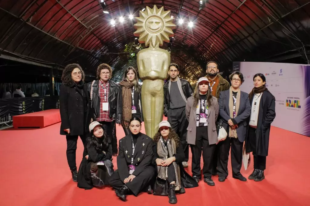
[[[193,88],[185,79],[179,78],[182,85],[182,91],[186,99],[193,95]],[[170,109],[170,94],[168,89],[169,81],[167,81],[164,85],[164,115],[167,116],[167,112]]]

